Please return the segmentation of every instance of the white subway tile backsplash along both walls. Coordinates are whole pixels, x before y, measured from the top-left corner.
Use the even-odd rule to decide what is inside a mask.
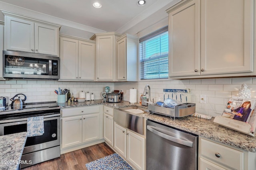
[[[110,91],[123,90],[123,100],[129,101],[130,89],[137,89],[137,102],[144,91],[146,84],[151,88],[151,99],[164,100],[163,89],[190,89],[191,102],[196,103],[196,112],[212,115],[221,115],[228,98],[237,96],[241,84],[248,84],[252,91],[252,98],[256,98],[256,78],[216,78],[192,80],[160,80],[140,82],[66,82],[54,80],[6,80],[0,81],[0,96],[12,98],[18,93],[27,96],[26,102],[57,101],[54,90],[67,88],[70,92],[76,90],[78,97],[80,91],[94,93],[95,99],[102,99],[101,92],[106,86]],[[206,104],[200,104],[200,94],[206,95]],[[167,98],[167,97],[166,97]]]

